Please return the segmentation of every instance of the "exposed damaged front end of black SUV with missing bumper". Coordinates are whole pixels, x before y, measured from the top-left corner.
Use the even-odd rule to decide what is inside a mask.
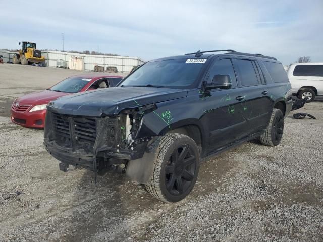
[[[138,138],[138,131],[141,113],[149,109],[153,110],[153,107],[105,117],[66,115],[48,109],[45,148],[64,165],[92,170],[96,183],[99,170],[114,164],[127,165],[127,162],[143,157],[152,137]],[[65,170],[64,165],[60,165],[61,170]]]

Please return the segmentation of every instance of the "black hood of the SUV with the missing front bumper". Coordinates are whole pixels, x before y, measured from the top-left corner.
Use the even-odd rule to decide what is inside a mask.
[[[113,87],[68,95],[47,106],[62,114],[101,116],[115,115],[128,108],[164,102],[187,96],[187,91],[153,87]]]

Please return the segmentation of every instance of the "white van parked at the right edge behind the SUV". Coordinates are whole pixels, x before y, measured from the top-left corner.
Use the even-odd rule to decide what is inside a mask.
[[[287,70],[293,95],[299,99],[323,96],[323,63],[293,63]]]

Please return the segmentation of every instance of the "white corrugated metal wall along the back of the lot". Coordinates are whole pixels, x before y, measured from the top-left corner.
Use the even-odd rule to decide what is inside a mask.
[[[3,55],[4,62],[12,62],[12,56],[15,52],[7,50],[0,50],[0,55]],[[63,59],[69,61],[71,57],[84,58],[84,69],[93,70],[95,65],[103,66],[106,70],[107,66],[114,66],[118,68],[119,72],[129,72],[133,66],[144,63],[138,57],[126,56],[111,56],[111,55],[91,55],[91,54],[76,54],[61,51],[42,51],[41,55],[45,57],[45,64],[47,66],[56,67],[58,60]]]

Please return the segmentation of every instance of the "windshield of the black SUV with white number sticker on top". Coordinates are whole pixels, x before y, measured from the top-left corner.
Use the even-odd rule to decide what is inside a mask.
[[[206,59],[167,59],[148,62],[134,71],[119,86],[188,88],[194,84]]]

